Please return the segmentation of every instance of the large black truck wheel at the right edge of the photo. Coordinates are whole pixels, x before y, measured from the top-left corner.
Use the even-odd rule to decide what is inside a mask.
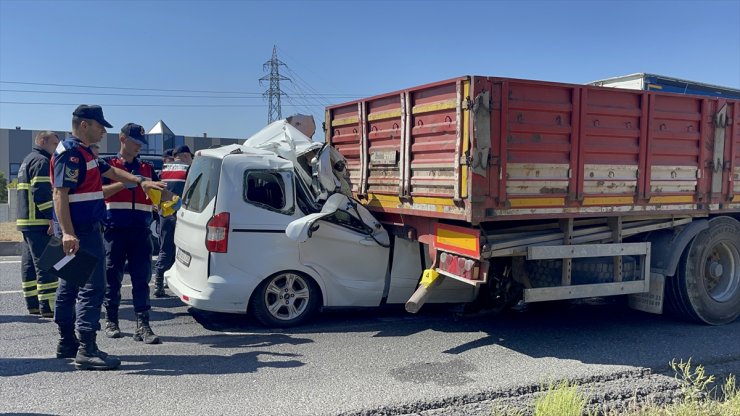
[[[669,312],[694,322],[722,325],[740,316],[740,223],[716,217],[681,256],[666,280]]]

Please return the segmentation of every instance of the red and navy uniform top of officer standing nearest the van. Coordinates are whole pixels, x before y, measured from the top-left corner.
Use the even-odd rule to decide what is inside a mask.
[[[142,176],[144,180],[157,180],[152,165],[138,158],[131,163],[126,163],[120,155],[111,156],[105,160],[113,167]],[[103,184],[109,183],[112,183],[109,179],[103,179]],[[152,222],[152,201],[140,186],[123,189],[106,198],[105,210],[104,224],[107,227],[148,228]]]

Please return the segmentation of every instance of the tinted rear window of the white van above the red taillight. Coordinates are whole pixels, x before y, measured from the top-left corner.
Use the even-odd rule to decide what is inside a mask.
[[[216,197],[220,177],[221,159],[209,156],[193,159],[182,193],[182,207],[188,211],[203,212]]]

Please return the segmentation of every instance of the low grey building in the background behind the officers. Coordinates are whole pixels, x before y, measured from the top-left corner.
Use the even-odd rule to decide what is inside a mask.
[[[24,130],[20,127],[15,129],[0,129],[0,171],[5,174],[8,180],[13,180],[18,176],[18,170],[21,167],[23,158],[31,151],[33,140],[41,130]],[[55,131],[60,139],[72,135],[68,131]],[[100,143],[101,153],[118,152],[118,132],[110,132],[103,138]],[[227,145],[234,143],[243,143],[244,139],[228,139],[218,137],[208,137],[205,133],[203,136],[178,136],[170,130],[164,121],[158,121],[154,127],[147,133],[149,145],[142,147],[142,154],[161,155],[164,149],[170,149],[182,145],[187,145],[190,150],[206,149],[214,145]]]

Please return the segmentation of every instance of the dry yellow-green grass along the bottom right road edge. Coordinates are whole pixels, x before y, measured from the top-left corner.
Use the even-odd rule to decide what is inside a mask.
[[[527,409],[494,405],[492,416],[740,416],[740,388],[730,375],[717,389],[715,377],[704,366],[692,366],[691,359],[669,363],[679,383],[682,400],[668,405],[632,403],[628,409],[604,412],[588,407],[588,396],[567,380],[550,383]]]

